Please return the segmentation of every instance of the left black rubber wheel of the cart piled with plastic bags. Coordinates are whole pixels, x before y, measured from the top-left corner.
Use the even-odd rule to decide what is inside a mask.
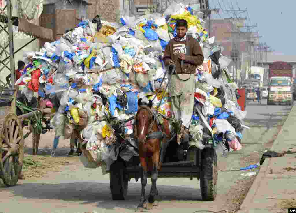
[[[125,166],[120,160],[110,165],[110,190],[113,200],[125,200],[128,194],[128,178],[125,176]]]

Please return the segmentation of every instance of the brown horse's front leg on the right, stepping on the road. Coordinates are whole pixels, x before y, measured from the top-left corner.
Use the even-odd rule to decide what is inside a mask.
[[[152,176],[151,176],[152,185],[151,185],[150,195],[148,198],[147,209],[152,209],[153,203],[155,201],[155,195],[157,192],[156,181],[158,178],[159,151],[158,152],[156,151],[153,153],[152,162],[153,162]]]

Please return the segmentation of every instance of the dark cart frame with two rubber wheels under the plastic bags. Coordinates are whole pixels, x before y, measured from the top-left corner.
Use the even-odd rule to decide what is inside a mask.
[[[159,178],[197,178],[200,181],[201,196],[204,201],[213,201],[217,195],[218,168],[217,153],[213,148],[213,142],[204,138],[205,148],[178,149],[175,153],[176,160],[166,160],[171,155],[167,148]],[[177,144],[177,143],[176,143]],[[119,155],[118,155],[119,156]],[[124,200],[128,193],[128,182],[131,178],[136,181],[141,178],[141,166],[139,157],[133,156],[130,161],[124,161],[119,156],[110,165],[110,190],[113,200]],[[151,173],[148,172],[148,177]]]

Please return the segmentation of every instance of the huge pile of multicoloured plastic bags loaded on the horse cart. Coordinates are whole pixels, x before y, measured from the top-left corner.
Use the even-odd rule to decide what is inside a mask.
[[[154,100],[155,108],[161,101],[158,112],[172,116],[168,91],[164,91],[168,75],[160,85],[166,71],[162,55],[168,41],[176,36],[176,19],[186,19],[188,34],[199,41],[205,56],[196,70],[191,146],[203,149],[202,140],[210,136],[214,147],[224,144],[228,151],[241,149],[237,136],[242,137],[246,112],[237,104],[237,85],[228,77],[230,60],[221,56],[215,61],[213,56],[220,56],[223,48],[212,45],[214,38],[208,38],[199,14],[189,6],[173,4],[165,16],[122,17],[120,23],[99,17],[83,21],[58,41],[26,53],[28,65],[16,84],[26,83],[22,93],[29,101],[38,92],[42,102],[51,102],[56,136],[79,138],[83,164],[102,166],[106,173],[118,155],[126,161],[138,155],[133,147],[118,145],[110,118],[133,117],[139,98]],[[126,122],[121,136],[133,132],[132,124],[133,120]],[[128,140],[135,146],[131,138]]]

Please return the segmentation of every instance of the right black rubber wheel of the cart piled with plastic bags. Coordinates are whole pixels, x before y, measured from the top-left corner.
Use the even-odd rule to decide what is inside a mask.
[[[218,168],[217,154],[213,148],[205,148],[202,152],[200,191],[202,200],[213,201],[217,195]]]

